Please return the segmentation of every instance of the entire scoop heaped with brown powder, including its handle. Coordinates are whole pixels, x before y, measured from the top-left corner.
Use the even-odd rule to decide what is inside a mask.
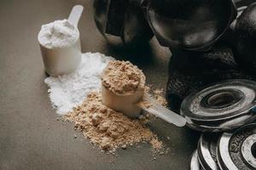
[[[102,103],[104,105],[131,118],[136,118],[143,110],[178,127],[185,126],[186,119],[183,116],[159,105],[157,100],[144,94],[144,89],[143,71],[129,61],[111,61],[102,73]],[[160,91],[156,92],[156,94],[160,93]],[[142,100],[144,101],[141,102]]]

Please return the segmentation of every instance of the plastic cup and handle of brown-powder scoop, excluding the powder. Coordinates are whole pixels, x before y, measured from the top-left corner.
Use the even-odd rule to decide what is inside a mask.
[[[149,106],[139,105],[138,102],[143,99]],[[108,88],[105,88],[102,84],[102,103],[107,105],[114,111],[120,111],[131,118],[136,118],[140,115],[141,111],[147,111],[148,113],[158,116],[166,122],[172,123],[177,127],[183,127],[186,125],[186,119],[183,116],[177,115],[177,113],[166,109],[166,107],[157,103],[157,101],[151,98],[148,94],[143,93],[143,89],[138,89],[134,94],[113,94]]]

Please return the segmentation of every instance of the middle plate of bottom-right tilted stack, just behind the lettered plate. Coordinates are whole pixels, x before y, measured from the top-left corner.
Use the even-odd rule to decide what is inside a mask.
[[[202,133],[197,152],[201,167],[206,170],[219,170],[217,160],[218,133]]]

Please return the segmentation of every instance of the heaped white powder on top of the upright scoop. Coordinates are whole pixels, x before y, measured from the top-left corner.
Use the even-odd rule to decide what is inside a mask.
[[[38,41],[45,48],[70,47],[79,39],[79,29],[68,20],[55,20],[43,25],[38,33]]]

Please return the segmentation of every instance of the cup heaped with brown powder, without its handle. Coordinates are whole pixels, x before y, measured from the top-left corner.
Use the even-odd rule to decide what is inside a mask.
[[[142,109],[136,104],[143,98],[146,77],[129,61],[110,61],[102,72],[102,103],[114,111],[136,118]]]

